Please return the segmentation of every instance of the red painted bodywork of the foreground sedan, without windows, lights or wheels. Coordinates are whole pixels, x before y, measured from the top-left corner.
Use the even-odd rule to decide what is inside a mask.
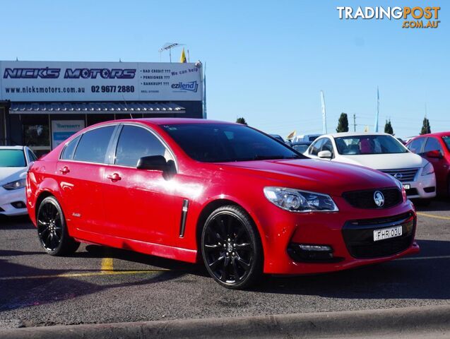
[[[406,199],[391,208],[374,210],[355,208],[342,197],[345,191],[396,186],[389,175],[359,166],[309,159],[197,162],[188,157],[160,126],[194,122],[211,123],[197,119],[127,119],[95,125],[141,124],[155,131],[175,157],[177,174],[170,179],[160,171],[59,160],[65,143],[59,145],[36,161],[28,174],[27,198],[32,222],[36,225],[38,201],[52,194],[64,211],[69,234],[81,242],[194,263],[199,261],[201,253],[199,230],[202,212],[215,203],[232,202],[247,210],[254,220],[264,250],[265,273],[342,270],[419,251],[418,245],[411,242],[408,249],[398,254],[357,259],[349,254],[343,241],[343,225],[348,220],[404,213],[410,213],[415,219],[413,205]],[[69,141],[95,126],[76,133]],[[113,174],[117,174],[117,180],[110,179]],[[328,194],[339,211],[292,213],[282,210],[264,196],[265,186]],[[184,199],[189,201],[189,212],[184,234],[180,237]],[[343,260],[336,263],[294,261],[287,251],[290,242],[329,244],[333,247],[333,254]]]

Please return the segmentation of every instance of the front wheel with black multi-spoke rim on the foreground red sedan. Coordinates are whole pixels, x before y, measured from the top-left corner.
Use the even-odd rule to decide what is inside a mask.
[[[201,233],[201,254],[211,277],[227,288],[249,287],[263,272],[259,233],[239,206],[223,206],[211,213]]]

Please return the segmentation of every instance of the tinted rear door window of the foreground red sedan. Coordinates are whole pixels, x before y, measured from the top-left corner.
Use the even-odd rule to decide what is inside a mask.
[[[100,127],[81,136],[73,160],[86,162],[105,162],[105,156],[116,126]]]

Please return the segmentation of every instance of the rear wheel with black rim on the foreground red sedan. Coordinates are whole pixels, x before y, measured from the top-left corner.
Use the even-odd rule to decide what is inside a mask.
[[[47,196],[37,209],[37,236],[45,251],[52,256],[73,254],[80,246],[69,236],[61,206],[53,196]]]

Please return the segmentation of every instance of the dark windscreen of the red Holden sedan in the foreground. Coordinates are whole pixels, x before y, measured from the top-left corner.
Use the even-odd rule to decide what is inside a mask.
[[[288,146],[248,126],[170,124],[162,127],[189,157],[200,162],[305,158]]]

